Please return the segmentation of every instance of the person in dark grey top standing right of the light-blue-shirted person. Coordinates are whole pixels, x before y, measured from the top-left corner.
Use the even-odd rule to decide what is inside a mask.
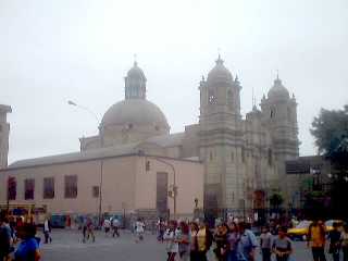
[[[273,240],[272,250],[275,253],[276,261],[288,261],[293,252],[291,240],[286,236],[287,228],[281,226],[278,236]]]

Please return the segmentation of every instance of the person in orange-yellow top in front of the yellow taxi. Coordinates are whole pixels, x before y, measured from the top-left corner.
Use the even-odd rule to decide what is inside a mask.
[[[308,228],[307,246],[312,248],[313,261],[326,261],[325,227],[323,222],[313,220]]]

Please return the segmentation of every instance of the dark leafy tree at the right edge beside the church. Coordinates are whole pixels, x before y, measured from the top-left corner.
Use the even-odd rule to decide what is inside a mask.
[[[318,151],[332,164],[331,200],[333,214],[347,217],[347,208],[341,200],[348,191],[348,104],[343,110],[322,109],[314,117],[311,134],[315,138]]]

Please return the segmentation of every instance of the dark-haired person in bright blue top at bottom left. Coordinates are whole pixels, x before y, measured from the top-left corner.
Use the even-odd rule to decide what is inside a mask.
[[[36,235],[36,226],[34,224],[24,224],[18,231],[21,243],[14,252],[15,261],[39,261],[41,254]]]

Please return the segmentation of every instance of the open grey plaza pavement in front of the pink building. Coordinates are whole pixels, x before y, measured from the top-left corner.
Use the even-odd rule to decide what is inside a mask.
[[[42,237],[41,233],[39,236]],[[82,243],[78,231],[53,229],[52,244],[41,244],[44,261],[165,261],[165,245],[159,244],[156,236],[148,233],[145,241],[136,244],[135,237],[127,231],[121,231],[120,238],[105,237],[96,232],[96,243]],[[304,243],[294,243],[291,261],[311,261],[310,250]],[[259,251],[258,251],[259,252]],[[177,261],[179,259],[176,259]],[[209,261],[214,261],[212,252]],[[330,260],[330,259],[327,259]],[[261,261],[258,257],[257,261]]]

